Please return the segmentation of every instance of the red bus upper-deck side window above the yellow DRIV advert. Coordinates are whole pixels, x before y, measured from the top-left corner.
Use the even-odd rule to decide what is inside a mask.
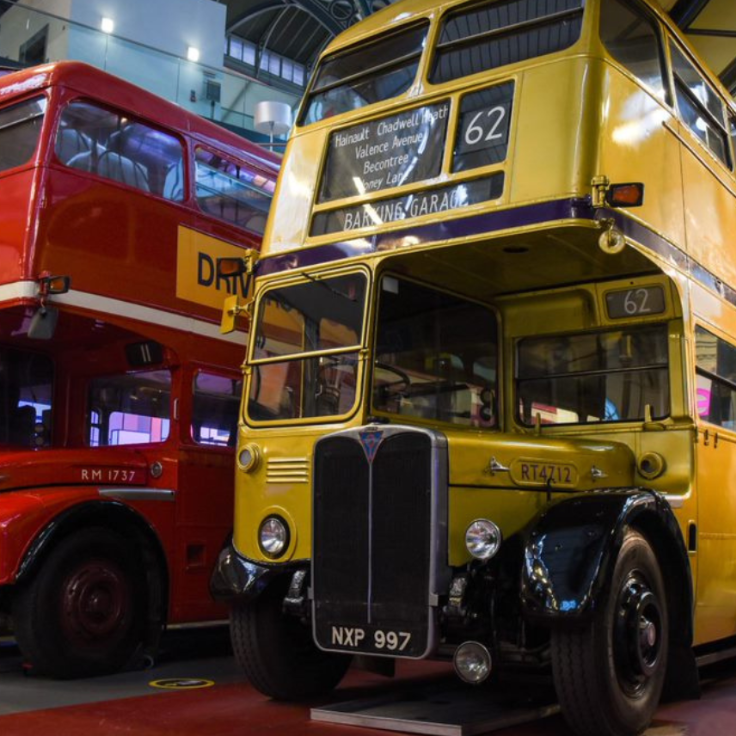
[[[274,178],[221,153],[197,148],[197,204],[220,220],[263,235]]]

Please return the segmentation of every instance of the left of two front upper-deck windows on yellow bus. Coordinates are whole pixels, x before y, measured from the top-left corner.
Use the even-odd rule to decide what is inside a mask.
[[[417,75],[429,23],[413,25],[322,60],[301,125],[388,100],[406,92]]]

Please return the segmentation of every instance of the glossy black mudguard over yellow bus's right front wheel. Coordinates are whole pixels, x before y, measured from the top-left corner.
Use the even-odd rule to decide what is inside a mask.
[[[692,643],[692,575],[672,509],[642,488],[568,497],[528,527],[522,565],[522,607],[530,620],[557,626],[589,620],[607,590],[627,527],[650,541],[667,581],[673,627]]]

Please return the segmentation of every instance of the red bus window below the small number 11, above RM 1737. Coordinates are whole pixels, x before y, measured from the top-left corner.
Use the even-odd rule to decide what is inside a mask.
[[[87,441],[90,447],[165,442],[170,412],[168,370],[94,378],[89,385]]]

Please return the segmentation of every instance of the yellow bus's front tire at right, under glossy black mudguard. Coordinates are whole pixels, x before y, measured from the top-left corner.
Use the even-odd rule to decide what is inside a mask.
[[[659,704],[669,640],[657,558],[628,530],[611,586],[592,622],[552,632],[552,671],[562,713],[579,736],[634,736]]]

